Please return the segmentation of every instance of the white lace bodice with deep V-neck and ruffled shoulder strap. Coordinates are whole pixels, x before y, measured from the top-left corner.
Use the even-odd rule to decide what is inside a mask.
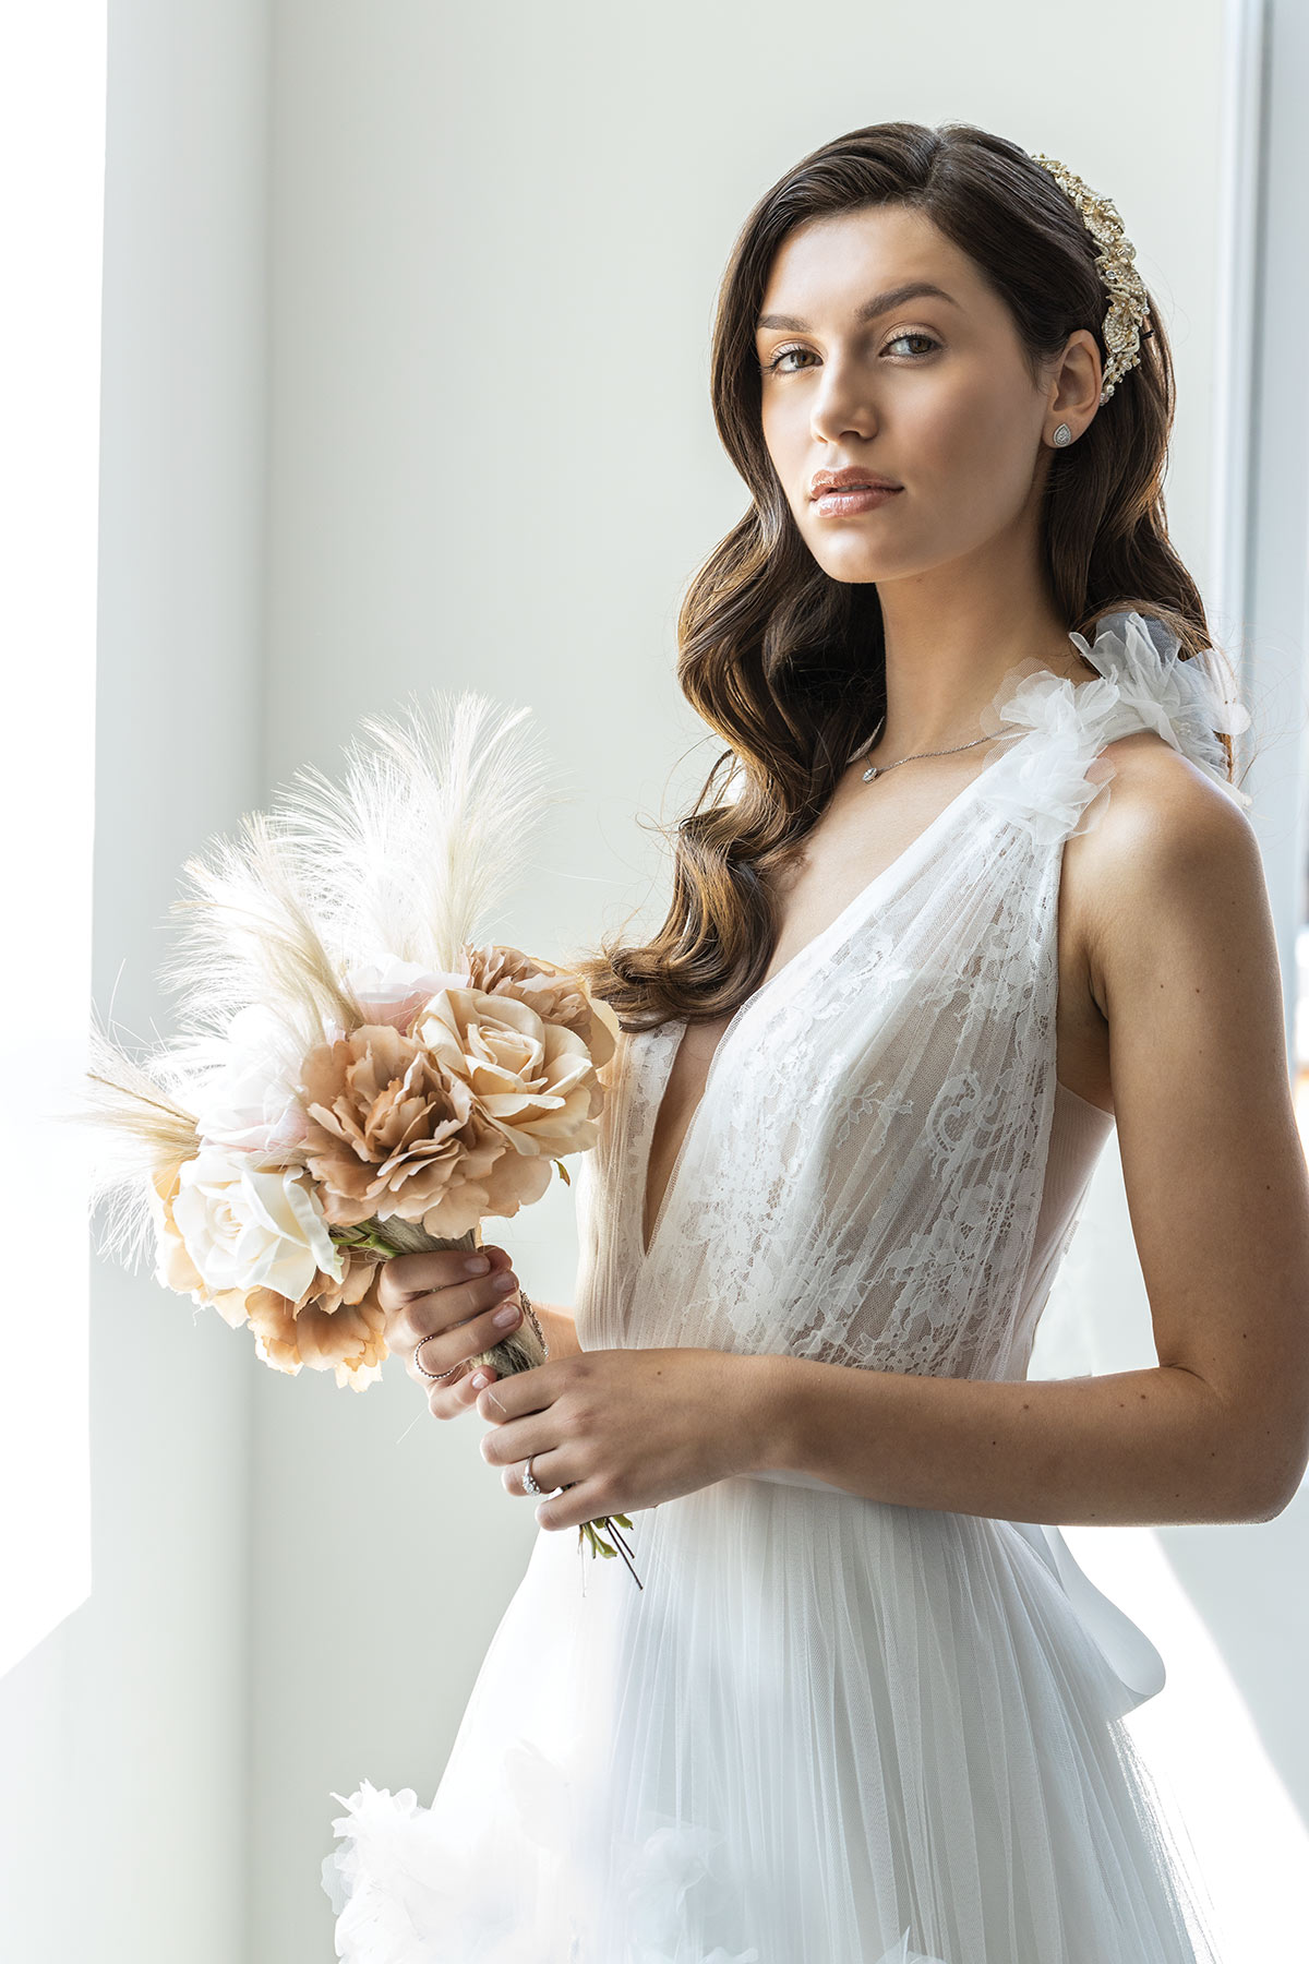
[[[1011,670],[981,772],[732,1015],[648,1251],[650,1139],[685,1023],[624,1033],[581,1163],[583,1347],[1024,1375],[1111,1125],[1056,1086],[1064,843],[1099,823],[1101,752],[1130,731],[1248,803],[1215,735],[1248,713],[1213,654],[1183,660],[1138,613],[1070,638],[1097,676]]]

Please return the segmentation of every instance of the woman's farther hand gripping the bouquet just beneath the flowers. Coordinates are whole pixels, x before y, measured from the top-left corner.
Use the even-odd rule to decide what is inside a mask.
[[[471,1267],[481,1263],[481,1273]],[[471,1359],[500,1343],[522,1322],[514,1300],[518,1277],[502,1247],[440,1247],[424,1255],[393,1255],[383,1263],[377,1300],[387,1312],[387,1349],[404,1359],[404,1369],[428,1394],[434,1418],[457,1418],[467,1412],[479,1391],[498,1377],[493,1365],[471,1371]],[[512,1308],[506,1324],[497,1316]],[[449,1371],[463,1365],[455,1377],[442,1383],[426,1377],[414,1363],[414,1351],[424,1337],[422,1361],[428,1371]]]

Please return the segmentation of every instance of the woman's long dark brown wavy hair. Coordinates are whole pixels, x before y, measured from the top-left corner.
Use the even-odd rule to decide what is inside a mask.
[[[1032,383],[1087,328],[1107,363],[1095,242],[1044,165],[973,124],[887,122],[811,151],[746,218],[712,332],[712,409],[750,509],[693,575],[677,619],[677,682],[728,744],[677,821],[673,894],[654,941],[606,939],[573,966],[624,1029],[734,1011],[777,937],[767,876],[793,856],[850,754],[885,713],[875,583],[832,579],[803,542],[761,428],[756,318],[773,257],[811,218],[907,204],[973,259],[1009,304]],[[1154,615],[1183,656],[1209,648],[1205,607],[1164,520],[1174,371],[1150,300],[1140,363],[1081,440],[1052,454],[1040,538],[1054,605],[1091,638],[1121,607]],[[1221,736],[1229,776],[1232,744]],[[724,795],[738,776],[734,795]]]

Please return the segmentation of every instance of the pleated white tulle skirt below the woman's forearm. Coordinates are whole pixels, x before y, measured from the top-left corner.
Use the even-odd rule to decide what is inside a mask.
[[[1219,1964],[1030,1530],[785,1475],[632,1522],[644,1589],[538,1534],[432,1807],[334,1795],[338,1958]]]

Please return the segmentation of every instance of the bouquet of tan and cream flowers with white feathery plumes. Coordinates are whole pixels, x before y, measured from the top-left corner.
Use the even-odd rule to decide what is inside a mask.
[[[249,1328],[277,1371],[365,1391],[393,1255],[477,1247],[589,1151],[618,1021],[585,978],[477,939],[544,801],[540,764],[465,693],[371,719],[343,786],[296,772],[237,841],[186,860],[163,980],[179,1035],[131,1055],[92,1017],[82,1119],[102,1251]],[[479,1361],[546,1357],[534,1320]],[[585,1522],[593,1555],[616,1550]]]

